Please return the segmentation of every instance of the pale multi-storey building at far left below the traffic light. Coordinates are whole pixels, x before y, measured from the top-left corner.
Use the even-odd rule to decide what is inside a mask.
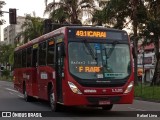
[[[18,33],[23,31],[21,26],[24,23],[24,21],[25,21],[25,17],[18,16],[17,24],[9,25],[3,29],[5,44],[15,44],[17,42],[16,37]],[[20,43],[23,41],[22,38],[19,38],[18,40],[19,40],[18,42]]]

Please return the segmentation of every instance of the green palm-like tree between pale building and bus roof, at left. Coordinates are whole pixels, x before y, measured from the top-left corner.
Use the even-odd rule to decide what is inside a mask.
[[[35,13],[33,17],[31,15],[26,15],[25,22],[22,24],[21,28],[23,31],[16,37],[23,36],[23,42],[26,43],[43,34],[43,19],[36,17]]]

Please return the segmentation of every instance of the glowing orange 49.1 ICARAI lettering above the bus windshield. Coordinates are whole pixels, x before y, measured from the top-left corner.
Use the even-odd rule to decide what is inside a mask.
[[[77,30],[77,37],[96,37],[96,38],[106,38],[106,31],[92,31],[92,30]]]

